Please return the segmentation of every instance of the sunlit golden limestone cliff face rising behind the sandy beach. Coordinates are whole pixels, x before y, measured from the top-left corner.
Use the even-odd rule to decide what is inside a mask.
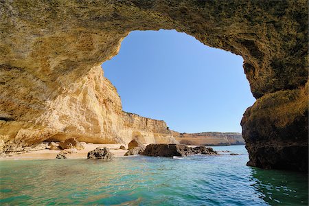
[[[5,86],[23,81],[23,78],[19,82],[7,81]],[[93,67],[63,90],[55,100],[46,101],[44,109],[31,111],[28,121],[26,117],[13,117],[1,110],[2,150],[23,150],[40,141],[71,137],[94,144],[128,144],[132,139],[144,144],[176,142],[165,122],[122,111],[117,90],[104,78],[100,66]]]

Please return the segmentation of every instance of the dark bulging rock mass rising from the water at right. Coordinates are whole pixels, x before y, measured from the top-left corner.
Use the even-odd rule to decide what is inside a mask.
[[[267,169],[308,172],[308,90],[264,95],[242,118],[250,161]]]

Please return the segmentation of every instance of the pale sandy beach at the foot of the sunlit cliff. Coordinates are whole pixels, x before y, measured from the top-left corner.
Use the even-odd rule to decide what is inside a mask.
[[[111,152],[115,155],[115,157],[124,157],[124,154],[128,150],[121,150],[119,147],[121,144],[84,144],[83,150],[77,150],[75,154],[67,154],[67,159],[87,159],[87,153],[91,150],[95,150],[95,148],[105,146],[110,149]],[[33,152],[26,152],[23,154],[14,154],[10,157],[0,158],[1,160],[31,160],[31,159],[56,159],[57,154],[61,150],[37,150]]]

